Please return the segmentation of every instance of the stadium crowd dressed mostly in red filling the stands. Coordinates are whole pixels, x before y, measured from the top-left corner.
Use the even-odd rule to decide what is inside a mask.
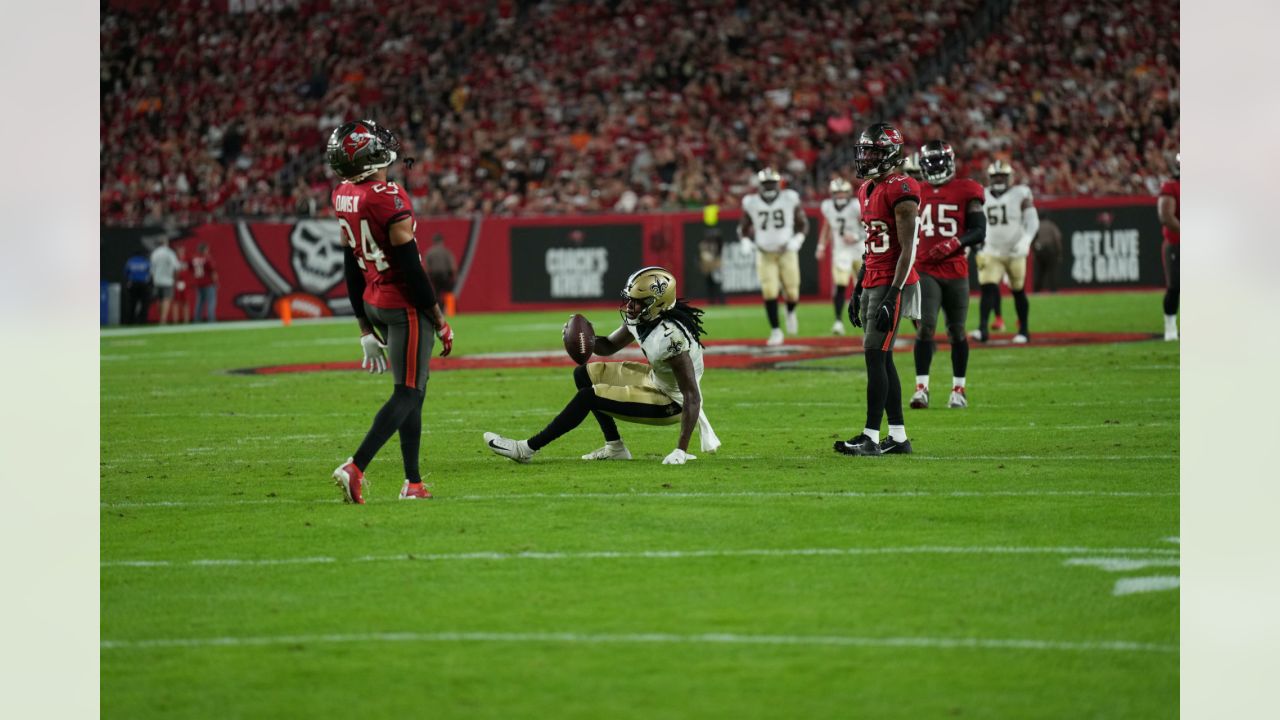
[[[1012,155],[1041,193],[1134,192],[1176,146],[1176,4],[1051,4],[1015,1],[904,131],[974,168]],[[733,205],[764,164],[813,191],[982,1],[119,5],[101,20],[101,214],[132,224],[324,214],[326,135],[364,115],[417,159],[430,215]]]

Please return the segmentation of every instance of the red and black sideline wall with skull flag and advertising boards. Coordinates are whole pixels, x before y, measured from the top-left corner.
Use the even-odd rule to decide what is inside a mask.
[[[1062,232],[1055,273],[1061,288],[1160,287],[1160,223],[1153,197],[1038,201],[1041,219]],[[831,293],[829,254],[814,258],[820,218],[808,209],[801,293]],[[719,215],[724,240],[726,293],[756,296],[755,260],[737,247],[737,210]],[[626,277],[643,265],[676,274],[681,295],[705,297],[698,246],[708,233],[703,214],[585,215],[545,218],[422,218],[425,251],[439,233],[458,259],[458,310],[463,313],[613,305]],[[338,227],[332,219],[293,223],[210,223],[188,228],[102,228],[101,279],[122,282],[125,259],[161,237],[174,247],[207,242],[218,264],[218,316],[269,318],[287,299],[294,316],[349,314],[342,279]],[[1030,274],[1029,274],[1030,275]]]

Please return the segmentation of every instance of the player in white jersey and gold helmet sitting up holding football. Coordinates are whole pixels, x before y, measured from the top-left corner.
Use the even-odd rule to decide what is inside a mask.
[[[588,363],[573,368],[577,393],[540,433],[529,439],[509,439],[485,433],[489,450],[517,462],[527,462],[535,452],[572,430],[588,415],[595,415],[604,433],[604,447],[588,452],[582,460],[631,460],[614,421],[646,425],[680,424],[676,448],[663,465],[684,465],[696,460],[689,441],[698,427],[703,452],[716,452],[719,439],[703,413],[703,311],[676,299],[676,278],[657,266],[641,268],[622,288],[626,301],[620,313],[622,325],[596,336],[594,355],[613,355],[632,342],[649,363]]]

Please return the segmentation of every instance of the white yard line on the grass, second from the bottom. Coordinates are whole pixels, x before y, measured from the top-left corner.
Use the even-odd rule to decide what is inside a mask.
[[[703,557],[850,557],[868,555],[1153,555],[1176,553],[1170,548],[1146,547],[1007,547],[1007,546],[914,546],[914,547],[799,547],[746,550],[595,550],[564,552],[406,552],[398,555],[365,555],[338,559],[271,557],[271,559],[200,559],[200,560],[104,560],[102,568],[212,568],[257,565],[317,565],[332,562],[403,562],[403,561],[506,561],[506,560],[687,560]]]

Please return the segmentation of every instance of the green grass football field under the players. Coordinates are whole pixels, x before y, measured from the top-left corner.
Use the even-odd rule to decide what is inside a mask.
[[[1160,329],[1158,293],[1033,296],[1032,313],[1039,332]],[[567,315],[463,315],[454,352],[558,348]],[[801,306],[801,334],[831,319]],[[758,306],[712,307],[707,327],[767,334]],[[105,716],[1178,711],[1178,593],[1112,594],[1178,574],[1176,343],[975,350],[964,411],[945,407],[943,350],[936,407],[908,410],[909,457],[831,451],[861,427],[860,356],[712,368],[724,446],[695,441],[686,466],[659,464],[675,428],[627,424],[636,460],[585,464],[591,419],[529,465],[497,457],[481,432],[540,429],[572,393],[568,361],[440,372],[422,439],[436,500],[396,500],[393,438],[365,507],[329,473],[387,375],[225,373],[356,360],[352,325],[108,336],[101,352]],[[910,352],[896,363],[909,395]],[[1100,557],[1165,566],[1073,562]],[[302,561],[262,562],[284,559]]]

